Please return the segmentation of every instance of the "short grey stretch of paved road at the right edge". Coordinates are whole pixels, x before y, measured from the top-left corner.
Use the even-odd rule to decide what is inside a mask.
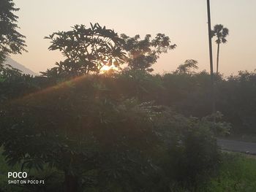
[[[256,143],[254,142],[239,142],[235,140],[217,139],[217,144],[222,148],[222,150],[231,150],[256,155]]]

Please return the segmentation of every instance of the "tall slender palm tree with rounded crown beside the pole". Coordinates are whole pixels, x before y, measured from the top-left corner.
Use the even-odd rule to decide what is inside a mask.
[[[217,71],[216,73],[219,73],[219,45],[221,43],[225,44],[227,42],[227,39],[225,39],[228,35],[228,28],[225,28],[223,25],[221,24],[217,24],[216,26],[214,26],[214,30],[211,31],[212,32],[212,37],[216,36],[217,40],[215,41],[218,45],[217,48]]]

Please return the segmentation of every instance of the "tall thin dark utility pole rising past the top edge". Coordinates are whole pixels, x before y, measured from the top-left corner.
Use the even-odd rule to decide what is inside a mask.
[[[210,69],[211,69],[211,99],[212,99],[212,112],[216,113],[216,97],[215,97],[215,83],[214,83],[214,64],[212,60],[212,45],[211,45],[211,7],[210,0],[207,0],[207,13],[208,13],[208,39],[209,39],[209,55],[210,55]],[[214,123],[216,119],[214,118]]]

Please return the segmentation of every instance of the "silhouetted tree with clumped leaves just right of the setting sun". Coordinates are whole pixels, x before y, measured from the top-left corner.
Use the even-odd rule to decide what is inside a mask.
[[[140,40],[140,35],[128,37],[121,34],[124,39],[122,48],[127,51],[127,64],[131,69],[146,70],[152,72],[151,66],[157,62],[161,53],[167,53],[167,50],[173,50],[176,44],[171,44],[170,38],[165,34],[157,34],[154,39],[147,34]]]

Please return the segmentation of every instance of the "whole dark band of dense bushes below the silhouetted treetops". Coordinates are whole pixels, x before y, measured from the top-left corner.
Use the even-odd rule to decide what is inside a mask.
[[[11,165],[55,167],[66,174],[66,184],[69,180],[72,187],[86,190],[108,186],[109,191],[122,191],[129,185],[130,191],[168,191],[170,185],[197,188],[219,164],[214,134],[227,134],[230,127],[222,121],[214,125],[211,116],[203,118],[211,112],[206,72],[177,70],[160,76],[124,70],[64,82],[11,77],[2,75],[2,88],[12,83],[17,87],[9,93],[6,86],[1,93],[5,99],[0,138]],[[253,115],[253,109],[247,114],[229,109],[242,96],[255,94],[253,78],[255,73],[249,72],[219,77],[218,87],[225,95],[219,94],[217,103],[225,120],[233,123],[231,131],[253,131],[243,118]],[[239,94],[245,91],[248,94]],[[242,102],[240,109],[249,110],[251,102]],[[244,130],[234,129],[238,123]],[[78,178],[76,184],[70,177]]]

